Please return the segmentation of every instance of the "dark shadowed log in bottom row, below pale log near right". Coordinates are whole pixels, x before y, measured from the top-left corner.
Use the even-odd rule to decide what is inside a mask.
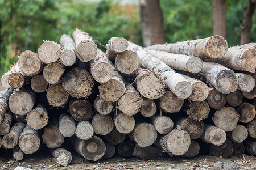
[[[233,154],[233,150],[233,144],[229,139],[226,139],[226,141],[220,146],[210,144],[210,154],[213,156],[222,156],[222,158],[228,158]]]

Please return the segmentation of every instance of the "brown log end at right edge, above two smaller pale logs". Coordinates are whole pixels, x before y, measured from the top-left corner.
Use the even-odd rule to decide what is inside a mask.
[[[250,103],[242,103],[237,108],[237,113],[240,115],[239,121],[242,123],[250,122],[256,115],[255,107]]]

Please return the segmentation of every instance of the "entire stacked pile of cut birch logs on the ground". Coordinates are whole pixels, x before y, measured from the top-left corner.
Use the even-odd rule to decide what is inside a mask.
[[[16,160],[47,147],[64,166],[74,149],[91,161],[256,155],[255,51],[221,36],[147,48],[112,37],[104,53],[76,29],[2,76],[1,145]]]

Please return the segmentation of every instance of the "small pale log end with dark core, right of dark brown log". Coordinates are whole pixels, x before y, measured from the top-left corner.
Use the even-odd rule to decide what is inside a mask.
[[[104,99],[97,97],[94,100],[94,108],[98,113],[102,115],[107,115],[112,111],[113,105],[109,101],[105,101]]]

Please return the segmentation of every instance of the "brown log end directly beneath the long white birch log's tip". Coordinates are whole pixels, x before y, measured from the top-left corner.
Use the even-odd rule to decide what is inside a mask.
[[[183,104],[184,100],[179,99],[172,91],[165,91],[159,101],[160,108],[167,113],[179,112]]]

